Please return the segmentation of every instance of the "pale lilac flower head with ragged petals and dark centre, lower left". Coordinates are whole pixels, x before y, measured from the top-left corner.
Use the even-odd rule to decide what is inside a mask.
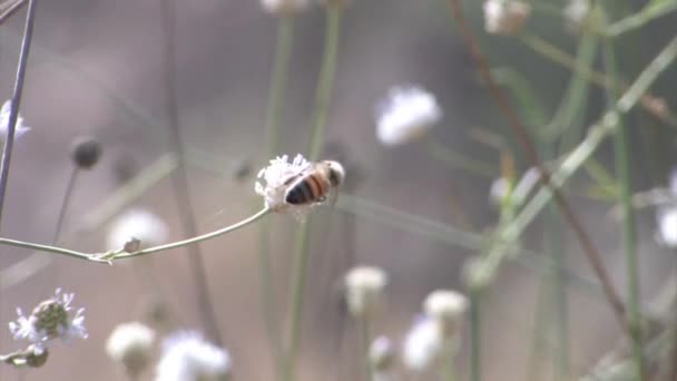
[[[38,304],[30,315],[26,316],[21,309],[17,309],[19,319],[9,323],[14,340],[29,340],[37,348],[47,348],[56,339],[87,339],[85,309],[73,313],[70,305],[73,297],[75,294],[61,293],[61,289],[57,289],[55,296]]]

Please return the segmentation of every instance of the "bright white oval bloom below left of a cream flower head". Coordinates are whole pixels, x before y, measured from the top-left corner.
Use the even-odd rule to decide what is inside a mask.
[[[440,356],[443,343],[440,323],[434,319],[420,316],[404,340],[404,365],[416,372],[429,369]]]

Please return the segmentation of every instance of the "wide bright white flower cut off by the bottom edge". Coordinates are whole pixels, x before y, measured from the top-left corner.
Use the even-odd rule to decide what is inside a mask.
[[[228,380],[232,360],[224,349],[206,342],[194,331],[179,331],[163,344],[156,381]]]

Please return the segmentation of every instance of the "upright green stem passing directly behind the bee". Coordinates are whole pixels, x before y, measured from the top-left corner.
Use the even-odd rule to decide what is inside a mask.
[[[311,139],[308,143],[308,158],[311,160],[317,160],[324,141],[324,130],[336,74],[342,16],[343,10],[338,7],[330,6],[326,10],[327,20],[325,25],[324,52],[315,94],[315,107],[311,119]],[[288,346],[284,372],[285,381],[295,380],[296,358],[298,355],[297,352],[301,342],[301,320],[304,301],[303,289],[307,275],[310,225],[310,222],[304,222],[296,234],[296,250],[292,273],[293,281],[290,295]]]

